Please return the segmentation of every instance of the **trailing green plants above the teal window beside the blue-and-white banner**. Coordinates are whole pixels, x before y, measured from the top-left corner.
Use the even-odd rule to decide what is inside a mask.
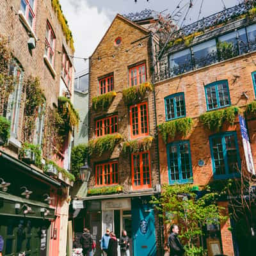
[[[225,109],[205,112],[200,115],[199,120],[205,127],[207,127],[207,129],[211,131],[220,131],[224,122],[234,125],[236,115],[239,111],[240,109],[238,107],[231,106]]]

